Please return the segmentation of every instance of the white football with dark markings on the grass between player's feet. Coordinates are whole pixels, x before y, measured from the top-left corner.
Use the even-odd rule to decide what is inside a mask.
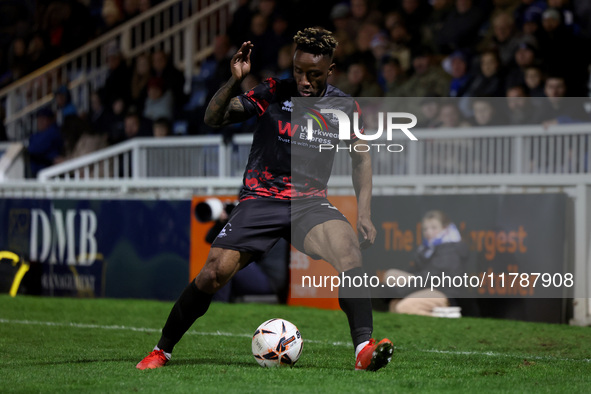
[[[252,336],[252,354],[261,367],[293,367],[303,345],[298,328],[283,319],[267,320]]]

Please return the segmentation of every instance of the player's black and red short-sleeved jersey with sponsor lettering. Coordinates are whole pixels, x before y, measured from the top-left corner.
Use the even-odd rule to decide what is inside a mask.
[[[338,123],[318,121],[318,106],[298,110],[296,116],[292,97],[299,95],[293,79],[269,78],[238,97],[247,113],[258,116],[240,200],[326,197],[336,149],[319,151],[319,145],[339,144]],[[322,99],[330,106],[336,100],[337,106],[348,114],[358,111],[356,102],[347,97],[328,85]],[[312,140],[307,138],[307,115],[315,119]],[[353,117],[350,118],[352,121]],[[357,137],[351,132],[350,138],[346,142]]]

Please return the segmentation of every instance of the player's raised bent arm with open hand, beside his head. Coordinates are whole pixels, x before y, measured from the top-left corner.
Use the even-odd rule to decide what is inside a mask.
[[[243,122],[249,118],[242,103],[236,97],[240,94],[240,84],[250,72],[250,53],[253,45],[250,41],[242,44],[232,57],[230,69],[232,76],[213,96],[205,110],[205,124],[222,127],[231,123]]]

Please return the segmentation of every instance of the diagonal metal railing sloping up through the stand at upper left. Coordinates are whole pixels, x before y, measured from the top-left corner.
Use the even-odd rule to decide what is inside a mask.
[[[58,86],[67,84],[79,111],[90,107],[90,93],[108,75],[108,47],[115,44],[126,59],[154,49],[171,54],[184,71],[185,90],[197,64],[212,53],[216,36],[225,33],[236,0],[168,0],[103,34],[81,48],[0,90],[6,131],[11,140],[34,130],[35,112],[53,100]]]

